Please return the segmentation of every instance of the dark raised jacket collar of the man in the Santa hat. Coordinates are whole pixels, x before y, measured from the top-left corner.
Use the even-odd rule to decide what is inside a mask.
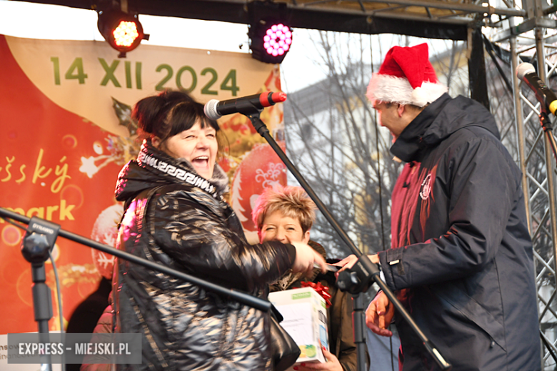
[[[449,101],[451,101],[451,96],[444,93],[424,108],[396,138],[396,142],[391,146],[391,153],[404,162],[420,161],[426,149],[426,144],[423,143],[423,134],[426,133],[431,123]]]

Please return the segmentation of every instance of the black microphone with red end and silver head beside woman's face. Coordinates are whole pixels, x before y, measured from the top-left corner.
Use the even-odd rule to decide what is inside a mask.
[[[275,103],[286,101],[286,93],[266,93],[244,96],[242,98],[229,99],[228,101],[217,101],[211,99],[204,107],[205,115],[211,120],[231,113],[254,114],[261,109],[273,106]]]

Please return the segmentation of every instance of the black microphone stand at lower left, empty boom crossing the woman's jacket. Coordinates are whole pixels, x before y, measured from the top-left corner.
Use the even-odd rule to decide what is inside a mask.
[[[201,280],[201,278],[194,277],[193,275],[187,275],[179,270],[174,270],[164,265],[139,258],[139,256],[126,253],[126,251],[118,250],[109,245],[104,245],[81,235],[76,235],[75,233],[63,230],[60,228],[60,225],[51,223],[48,220],[36,217],[27,218],[24,215],[14,213],[13,211],[5,208],[0,208],[0,218],[8,218],[29,225],[28,233],[26,233],[26,237],[24,238],[24,243],[21,248],[21,253],[24,255],[24,258],[31,263],[31,272],[34,282],[32,288],[33,308],[35,312],[35,320],[39,327],[39,341],[42,343],[49,342],[49,320],[52,317],[51,290],[45,283],[46,273],[44,269],[44,262],[49,258],[49,251],[54,247],[54,242],[56,241],[56,237],[58,235],[76,243],[81,243],[81,245],[86,245],[90,248],[114,255],[117,258],[128,260],[131,263],[136,263],[146,268],[165,273],[166,275],[171,275],[174,278],[194,283],[201,288],[222,295],[224,298],[236,300],[263,312],[269,312],[269,310],[271,310],[271,303],[268,300],[256,298],[241,291],[230,290],[214,283],[210,283],[206,280]],[[59,315],[62,314],[59,313]],[[44,360],[44,363],[42,364],[43,367],[41,367],[41,370],[51,371],[52,365],[50,356],[41,356],[41,362],[42,360]]]

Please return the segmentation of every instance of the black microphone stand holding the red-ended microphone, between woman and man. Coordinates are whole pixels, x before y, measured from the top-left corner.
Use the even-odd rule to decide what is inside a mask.
[[[263,110],[260,110],[253,105],[246,105],[239,108],[238,111],[239,113],[247,116],[250,119],[251,124],[254,126],[259,135],[266,139],[266,141],[269,143],[271,148],[274,149],[278,157],[281,158],[284,165],[286,165],[288,170],[291,171],[292,175],[298,180],[302,188],[306,190],[306,193],[308,193],[309,197],[313,200],[313,202],[315,202],[317,208],[321,210],[321,213],[323,213],[323,216],[325,216],[328,223],[331,224],[331,226],[336,230],[343,242],[346,243],[346,245],[348,245],[348,247],[352,250],[353,254],[358,257],[358,261],[355,265],[353,265],[353,268],[351,268],[352,272],[348,273],[348,277],[346,278],[347,282],[343,282],[343,287],[341,287],[341,282],[339,282],[340,280],[338,280],[337,282],[338,287],[341,288],[343,291],[348,290],[349,293],[353,295],[358,294],[358,296],[360,296],[359,299],[354,298],[353,300],[354,342],[356,342],[356,350],[358,352],[358,370],[366,370],[366,340],[364,337],[364,332],[362,330],[363,323],[365,321],[363,319],[364,313],[361,293],[369,288],[371,280],[374,280],[377,283],[381,290],[383,290],[383,293],[385,293],[385,295],[387,296],[388,300],[391,300],[391,303],[393,303],[396,310],[398,310],[398,312],[402,315],[406,322],[408,322],[408,325],[410,325],[412,330],[416,332],[416,335],[418,335],[420,340],[423,342],[423,345],[426,347],[426,350],[429,352],[431,357],[433,357],[439,367],[441,367],[441,370],[451,370],[452,365],[446,362],[435,345],[433,345],[431,340],[429,340],[428,337],[426,337],[426,335],[419,329],[416,322],[414,322],[414,320],[410,317],[406,309],[403,307],[401,302],[398,301],[391,289],[389,289],[386,283],[381,280],[381,278],[379,277],[379,270],[377,268],[377,265],[371,263],[371,260],[369,260],[368,256],[361,253],[356,245],[354,245],[352,240],[348,237],[348,234],[342,229],[341,225],[338,224],[333,215],[331,215],[331,213],[327,210],[326,206],[318,198],[318,195],[313,192],[313,189],[306,182],[303,176],[301,176],[301,173],[298,171],[296,166],[291,163],[291,161],[286,156],[286,153],[284,153],[282,151],[282,148],[278,146],[274,138],[269,133],[269,128],[267,128],[265,123],[259,118],[259,115]]]

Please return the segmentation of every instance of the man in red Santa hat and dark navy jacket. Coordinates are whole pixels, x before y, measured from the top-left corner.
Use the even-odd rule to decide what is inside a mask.
[[[521,171],[491,113],[446,91],[427,44],[394,46],[371,78],[367,96],[406,165],[393,190],[391,249],[370,258],[453,371],[541,370]],[[390,336],[393,317],[400,369],[438,370],[378,293],[368,327]]]

